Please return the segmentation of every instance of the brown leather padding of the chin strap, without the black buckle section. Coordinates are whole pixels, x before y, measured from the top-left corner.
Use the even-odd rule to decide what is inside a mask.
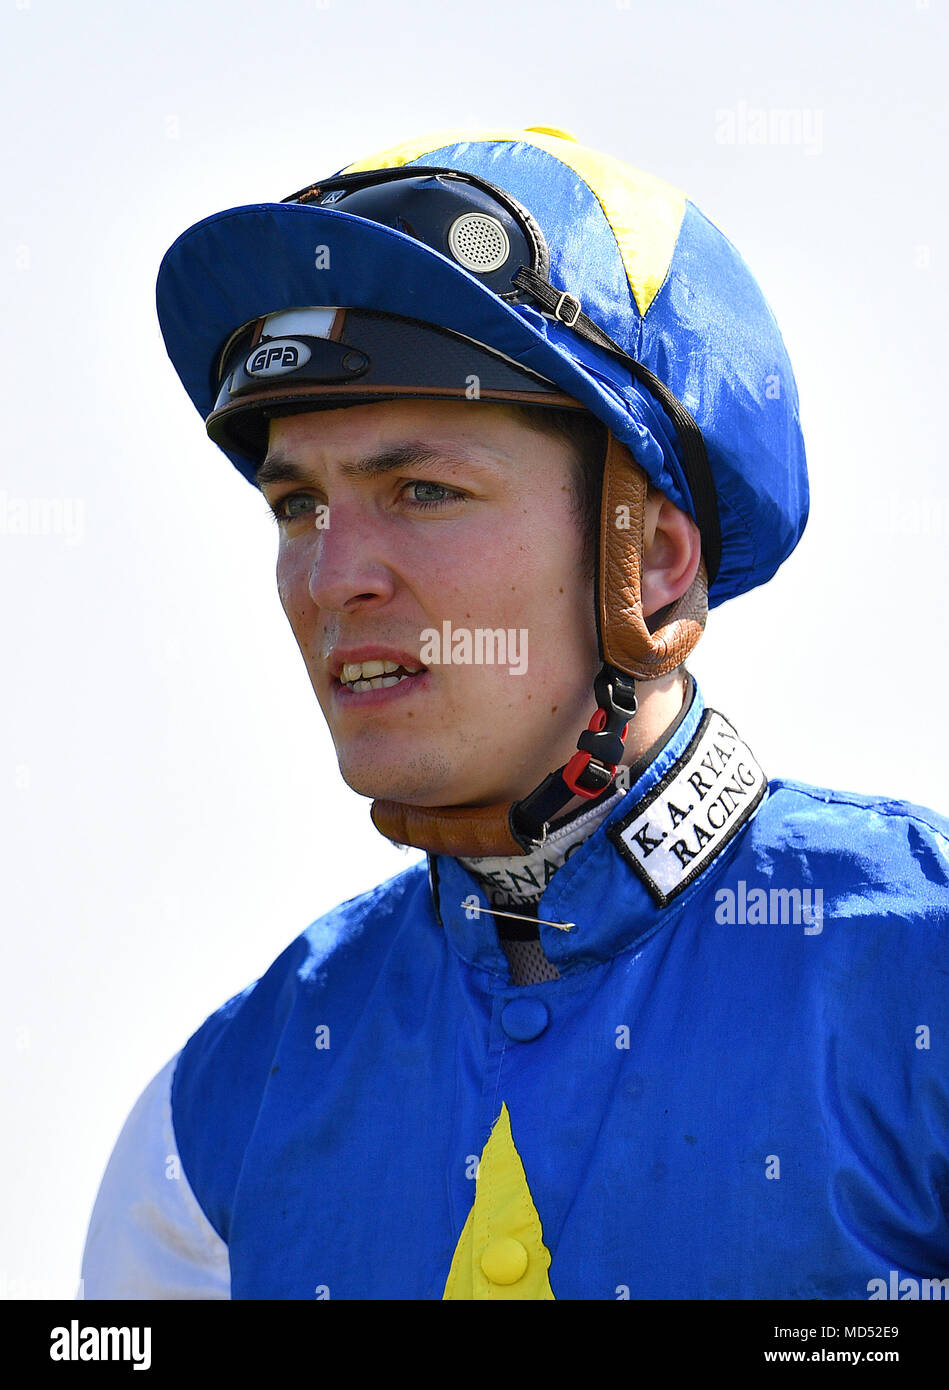
[[[629,450],[609,436],[600,499],[596,575],[600,655],[641,681],[668,676],[689,656],[704,630],[709,594],[704,560],[695,580],[657,614],[650,630],[642,610],[642,552],[647,478]],[[492,806],[410,806],[374,801],[372,824],[388,840],[434,855],[482,858],[524,855],[511,831],[513,802]]]

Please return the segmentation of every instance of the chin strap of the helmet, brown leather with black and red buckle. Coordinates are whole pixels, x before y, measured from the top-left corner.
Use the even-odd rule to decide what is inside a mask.
[[[434,855],[484,858],[525,855],[574,796],[595,798],[611,785],[636,713],[636,680],[668,676],[702,637],[707,603],[704,560],[685,594],[650,630],[642,612],[642,552],[647,480],[624,445],[610,435],[600,495],[597,634],[603,667],[593,682],[596,712],[577,752],[518,802],[493,806],[410,806],[374,801],[375,828],[400,845]],[[620,521],[622,524],[620,524]]]

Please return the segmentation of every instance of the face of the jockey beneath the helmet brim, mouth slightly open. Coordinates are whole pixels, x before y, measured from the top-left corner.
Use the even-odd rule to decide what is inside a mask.
[[[281,602],[354,791],[514,801],[575,751],[599,660],[572,467],[568,443],[481,402],[271,421]],[[497,628],[506,651],[478,642]],[[425,669],[347,688],[370,660]]]

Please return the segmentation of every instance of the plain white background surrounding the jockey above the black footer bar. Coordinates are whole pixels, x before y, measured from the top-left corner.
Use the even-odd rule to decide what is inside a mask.
[[[682,188],[782,327],[813,489],[693,670],[770,776],[946,810],[949,24],[946,0],[1,4],[0,1294],[58,1298],[146,1081],[420,858],[339,778],[275,528],[164,354],[165,249],[453,126],[561,126]],[[17,499],[58,530],[17,534]]]

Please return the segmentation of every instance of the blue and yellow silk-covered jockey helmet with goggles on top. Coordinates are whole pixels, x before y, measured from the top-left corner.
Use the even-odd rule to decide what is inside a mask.
[[[271,414],[471,399],[474,378],[603,421],[699,524],[710,606],[806,523],[798,392],[748,267],[675,188],[563,132],[407,140],[208,217],[165,254],[158,317],[250,481]]]

